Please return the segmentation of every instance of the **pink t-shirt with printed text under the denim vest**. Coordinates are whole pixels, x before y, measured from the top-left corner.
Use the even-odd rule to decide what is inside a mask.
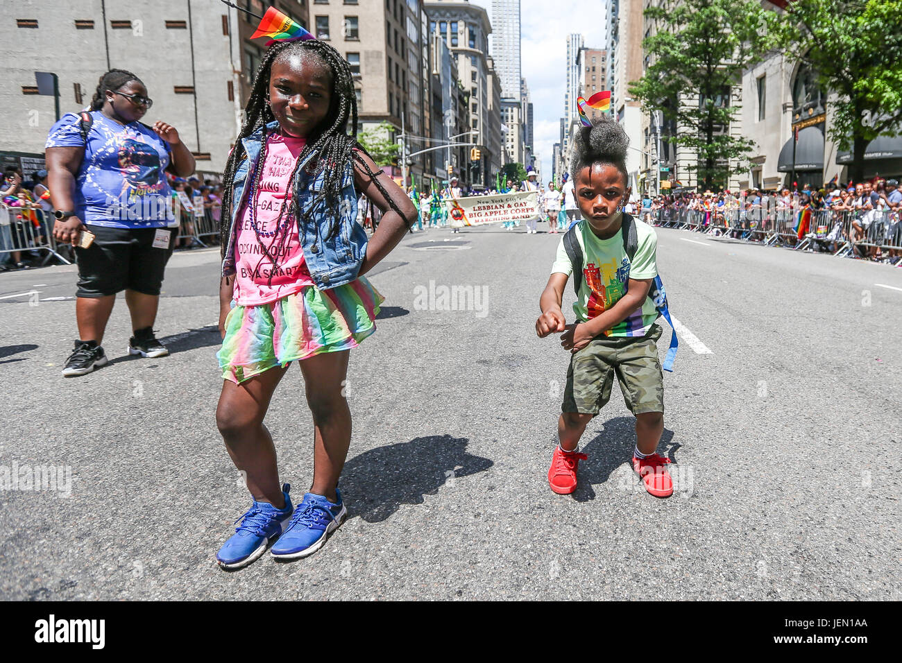
[[[267,142],[269,148],[266,162],[263,163],[260,193],[256,196],[257,229],[262,233],[276,231],[276,235],[261,236],[258,240],[251,226],[252,201],[245,198],[244,208],[239,216],[238,238],[235,242],[235,303],[239,306],[269,304],[299,292],[304,286],[313,285],[307,263],[304,262],[304,252],[300,247],[297,222],[292,219],[287,227],[284,226],[291,202],[289,190],[291,172],[300,152],[304,149],[306,140],[272,134]],[[248,196],[252,177],[253,172],[248,175]],[[285,212],[280,222],[278,219],[282,207],[285,207]],[[289,237],[284,243],[283,252],[276,256],[279,266],[272,276],[270,285],[272,261],[263,253],[260,242],[272,254],[282,244],[283,233],[288,233]]]

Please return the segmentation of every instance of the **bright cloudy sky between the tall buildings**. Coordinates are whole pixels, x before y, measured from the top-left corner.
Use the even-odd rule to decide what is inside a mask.
[[[492,16],[492,0],[470,0]],[[566,87],[566,38],[583,34],[584,45],[604,47],[603,0],[520,0],[520,66],[532,99],[536,152],[542,179],[551,179],[554,143],[560,137]]]

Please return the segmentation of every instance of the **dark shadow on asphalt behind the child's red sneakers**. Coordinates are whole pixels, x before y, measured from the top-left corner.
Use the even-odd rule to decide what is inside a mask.
[[[589,426],[597,426],[597,424],[593,421]],[[592,486],[607,482],[614,470],[623,463],[629,463],[632,458],[632,449],[636,445],[636,419],[615,417],[604,421],[603,426],[601,433],[587,445],[580,447],[580,451],[589,458],[579,464],[579,484],[573,493],[576,502],[594,500],[595,492]],[[673,437],[674,432],[664,428],[661,441],[658,443],[658,453],[661,456],[667,456],[671,463],[676,464],[674,453],[682,445],[678,442],[671,442]],[[639,481],[637,474],[636,482]]]

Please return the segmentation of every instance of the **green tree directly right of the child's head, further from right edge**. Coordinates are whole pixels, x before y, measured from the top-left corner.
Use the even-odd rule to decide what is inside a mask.
[[[630,95],[665,122],[675,120],[676,134],[662,140],[698,155],[688,168],[706,189],[723,187],[749,170],[755,146],[730,134],[740,109],[732,88],[766,55],[776,15],[758,0],[663,0],[645,15],[658,32],[642,41],[652,63],[630,83]]]

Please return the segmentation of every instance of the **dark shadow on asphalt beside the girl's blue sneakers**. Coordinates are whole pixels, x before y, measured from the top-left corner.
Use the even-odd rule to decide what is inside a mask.
[[[422,504],[452,480],[494,465],[488,458],[466,452],[466,437],[415,437],[389,447],[354,456],[342,471],[338,488],[347,500],[347,517],[381,522],[401,504]],[[458,469],[459,468],[459,469]]]

